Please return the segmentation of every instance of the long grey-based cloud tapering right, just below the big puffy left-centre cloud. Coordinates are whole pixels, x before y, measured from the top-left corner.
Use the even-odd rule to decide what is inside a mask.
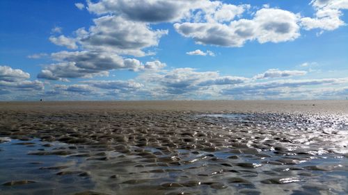
[[[166,66],[158,60],[143,65],[134,58],[123,59],[116,54],[105,52],[60,51],[52,53],[51,56],[57,63],[45,66],[38,74],[38,78],[68,81],[68,78],[109,76],[109,71],[114,69],[155,71]]]

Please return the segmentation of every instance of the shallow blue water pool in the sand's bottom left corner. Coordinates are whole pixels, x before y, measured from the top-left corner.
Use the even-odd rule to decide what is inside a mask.
[[[29,155],[38,151],[61,151],[67,144],[38,139],[1,140],[6,142],[0,144],[0,194],[69,194],[93,188],[94,183],[88,177],[62,173],[77,170],[81,159],[65,155]]]

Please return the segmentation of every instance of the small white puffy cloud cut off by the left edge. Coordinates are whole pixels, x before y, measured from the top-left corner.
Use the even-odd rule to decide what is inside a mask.
[[[15,82],[30,78],[30,74],[21,69],[13,69],[8,66],[0,66],[0,80],[5,82]]]

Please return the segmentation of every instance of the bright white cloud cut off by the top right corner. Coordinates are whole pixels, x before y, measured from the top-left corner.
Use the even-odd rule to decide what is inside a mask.
[[[315,8],[315,17],[303,17],[301,24],[304,29],[311,30],[319,28],[326,31],[333,31],[345,25],[342,21],[342,11],[348,9],[347,0],[313,0],[310,2]]]

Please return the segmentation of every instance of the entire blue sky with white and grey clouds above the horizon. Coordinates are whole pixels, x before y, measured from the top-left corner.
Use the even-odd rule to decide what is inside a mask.
[[[0,101],[346,99],[348,0],[0,1]]]

